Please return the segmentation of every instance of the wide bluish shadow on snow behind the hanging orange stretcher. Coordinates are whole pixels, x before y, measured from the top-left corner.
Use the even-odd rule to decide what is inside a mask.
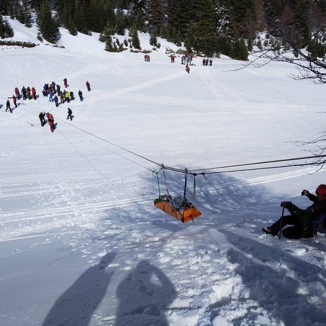
[[[166,173],[169,192],[172,196],[183,196],[184,175],[181,173]],[[271,218],[279,218],[270,214],[270,211],[278,211],[280,201],[284,200],[279,196],[271,196],[268,190],[262,185],[251,185],[248,182],[236,179],[227,174],[218,174],[196,177],[196,196],[193,197],[194,177],[188,176],[187,199],[192,202],[201,212],[202,216],[195,219],[195,223],[182,224],[159,209],[151,206],[149,218],[151,223],[160,224],[162,227],[171,228],[172,225],[181,225],[181,228],[192,227],[193,225],[235,225],[243,220],[243,216],[250,214],[256,217],[271,215]],[[156,176],[147,185],[146,193],[141,196],[153,195],[153,200],[158,197]],[[164,179],[160,176],[161,193],[166,193]],[[148,207],[148,206],[147,206]]]

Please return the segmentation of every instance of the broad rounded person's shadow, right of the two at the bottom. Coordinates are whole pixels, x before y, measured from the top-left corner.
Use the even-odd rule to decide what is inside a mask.
[[[147,260],[130,271],[117,288],[119,306],[115,326],[168,326],[164,314],[176,298],[169,278]]]

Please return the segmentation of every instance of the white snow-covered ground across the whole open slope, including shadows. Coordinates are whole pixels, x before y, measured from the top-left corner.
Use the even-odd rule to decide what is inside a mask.
[[[35,29],[11,23],[15,40],[39,43]],[[203,215],[183,225],[152,205],[151,173],[116,153],[157,167],[72,127],[181,169],[304,156],[291,141],[324,128],[324,86],[290,79],[281,63],[223,72],[239,67],[226,58],[212,67],[198,58],[188,75],[163,48],[145,63],[142,53],[103,51],[98,35],[61,32],[65,49],[0,47],[0,324],[325,325],[326,260],[315,249],[326,239],[260,232],[280,201],[308,206],[300,193],[324,183],[324,171],[198,177]],[[52,80],[63,90],[64,77],[85,97],[70,103],[72,122],[67,104],[41,94]],[[40,97],[6,113],[22,85]],[[52,112],[54,133],[39,111]],[[167,178],[182,194],[183,175]]]

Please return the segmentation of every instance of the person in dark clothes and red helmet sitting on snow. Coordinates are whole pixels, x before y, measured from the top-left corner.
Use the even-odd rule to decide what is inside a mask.
[[[316,228],[322,225],[326,218],[326,185],[320,184],[316,195],[305,190],[301,194],[307,196],[313,204],[306,209],[301,209],[291,202],[282,202],[281,207],[286,208],[291,215],[283,216],[272,226],[263,228],[266,234],[277,235],[284,226],[292,225],[282,230],[282,234],[289,239],[313,238],[317,235]],[[282,224],[281,224],[282,219]]]

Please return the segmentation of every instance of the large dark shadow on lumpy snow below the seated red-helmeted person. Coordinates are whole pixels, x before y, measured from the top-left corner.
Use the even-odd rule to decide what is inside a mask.
[[[240,300],[257,301],[286,326],[325,323],[326,271],[323,268],[251,238],[221,232],[234,246],[227,256],[230,263],[238,265],[234,271],[241,276],[245,287]]]

